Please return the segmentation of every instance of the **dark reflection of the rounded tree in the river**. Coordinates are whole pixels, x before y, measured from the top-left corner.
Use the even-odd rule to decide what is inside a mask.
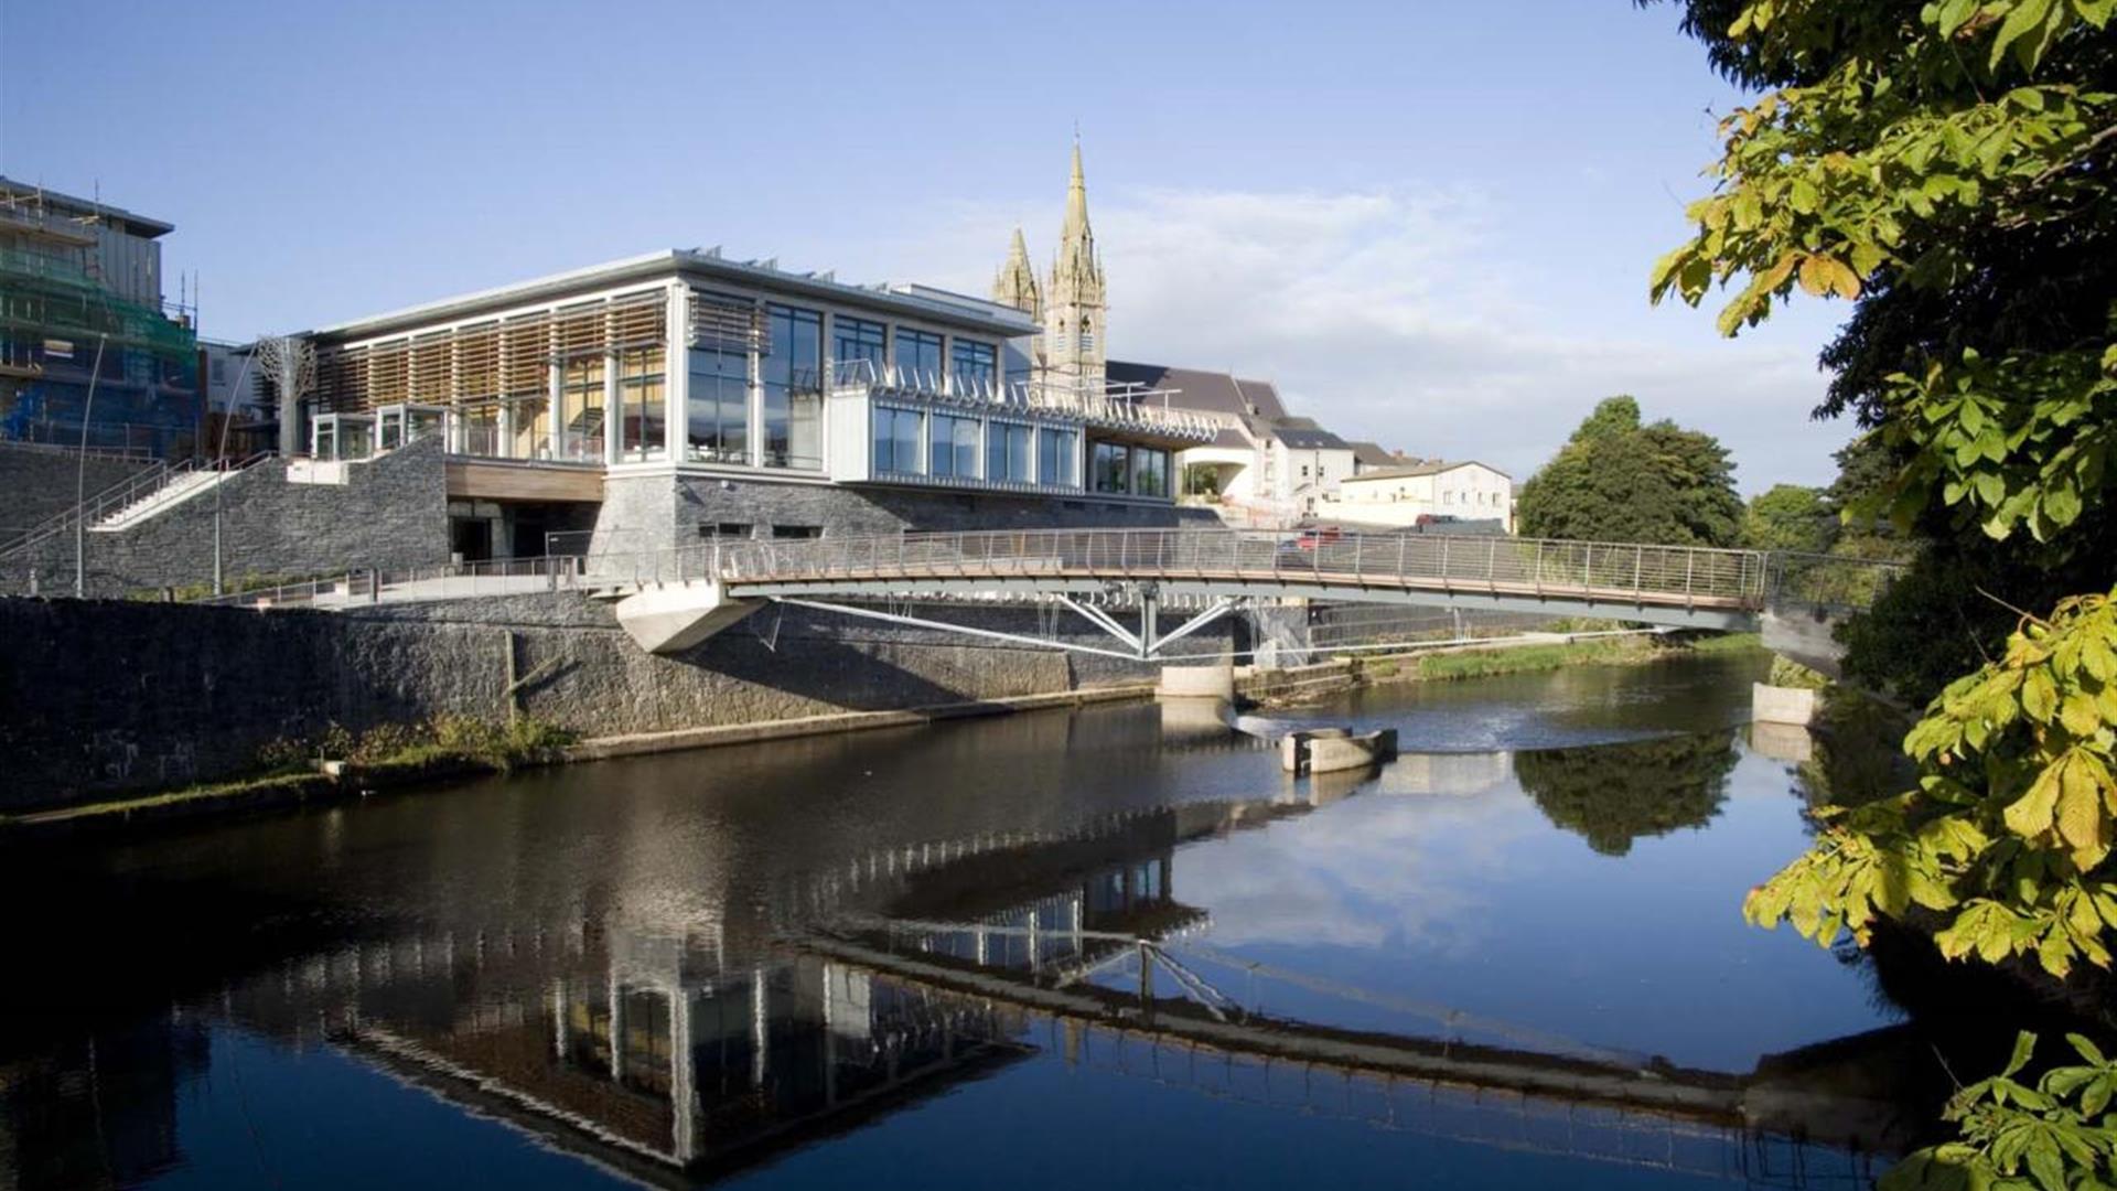
[[[1734,731],[1518,752],[1514,776],[1554,824],[1605,856],[1641,835],[1698,826],[1719,812],[1734,769]]]

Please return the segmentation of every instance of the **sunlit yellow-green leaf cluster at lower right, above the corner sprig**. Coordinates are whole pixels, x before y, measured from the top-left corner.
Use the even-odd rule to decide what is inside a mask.
[[[2117,596],[2117,593],[2113,593]],[[2111,964],[2117,928],[2117,602],[2024,617],[2007,655],[1943,691],[1903,746],[1918,788],[1823,807],[1814,846],[1742,905],[1829,947],[1878,916],[1946,913],[1948,958]]]

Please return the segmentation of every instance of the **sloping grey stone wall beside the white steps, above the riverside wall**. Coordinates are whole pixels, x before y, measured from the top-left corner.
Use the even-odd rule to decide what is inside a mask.
[[[212,583],[214,504],[207,490],[123,530],[91,530],[89,593],[114,598]],[[267,460],[220,485],[220,511],[231,581],[449,562],[449,485],[438,439],[347,464],[343,485],[294,483],[288,464]],[[74,540],[53,538],[0,562],[0,593],[28,591],[32,568],[42,589],[70,587]]]

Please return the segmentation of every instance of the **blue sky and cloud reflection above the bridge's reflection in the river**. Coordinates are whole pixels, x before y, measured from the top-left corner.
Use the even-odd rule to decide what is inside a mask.
[[[1711,822],[1643,837],[1626,856],[1552,826],[1514,782],[1473,797],[1365,793],[1188,846],[1171,886],[1211,911],[1205,943],[1249,960],[1749,1070],[1763,1053],[1882,1021],[1854,971],[1742,922],[1749,886],[1806,846],[1785,782],[1783,765],[1744,754]],[[1245,988],[1236,979],[1230,992]],[[1257,988],[1279,1013],[1421,1030],[1374,1005]]]

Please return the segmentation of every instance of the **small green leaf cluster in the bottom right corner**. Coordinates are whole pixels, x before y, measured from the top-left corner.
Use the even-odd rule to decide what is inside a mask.
[[[2077,1066],[2053,1066],[2034,1085],[2015,1077],[2037,1049],[2020,1034],[2007,1068],[1956,1091],[1943,1119],[1960,1140],[1922,1149],[1882,1176],[1882,1191],[2068,1191],[2117,1185],[2117,1062],[2066,1034]]]

